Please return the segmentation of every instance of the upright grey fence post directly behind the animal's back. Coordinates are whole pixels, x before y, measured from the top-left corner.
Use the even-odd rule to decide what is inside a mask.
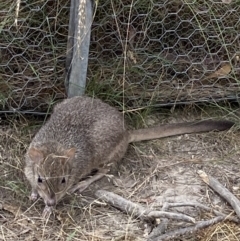
[[[85,92],[92,19],[91,0],[71,0],[65,81],[69,98]]]

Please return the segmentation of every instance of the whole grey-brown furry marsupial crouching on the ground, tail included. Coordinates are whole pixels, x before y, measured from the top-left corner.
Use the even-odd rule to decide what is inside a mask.
[[[33,138],[26,154],[25,175],[32,198],[55,205],[93,169],[117,162],[130,142],[185,133],[226,130],[231,121],[205,120],[126,130],[123,114],[99,99],[73,97],[57,104]]]

